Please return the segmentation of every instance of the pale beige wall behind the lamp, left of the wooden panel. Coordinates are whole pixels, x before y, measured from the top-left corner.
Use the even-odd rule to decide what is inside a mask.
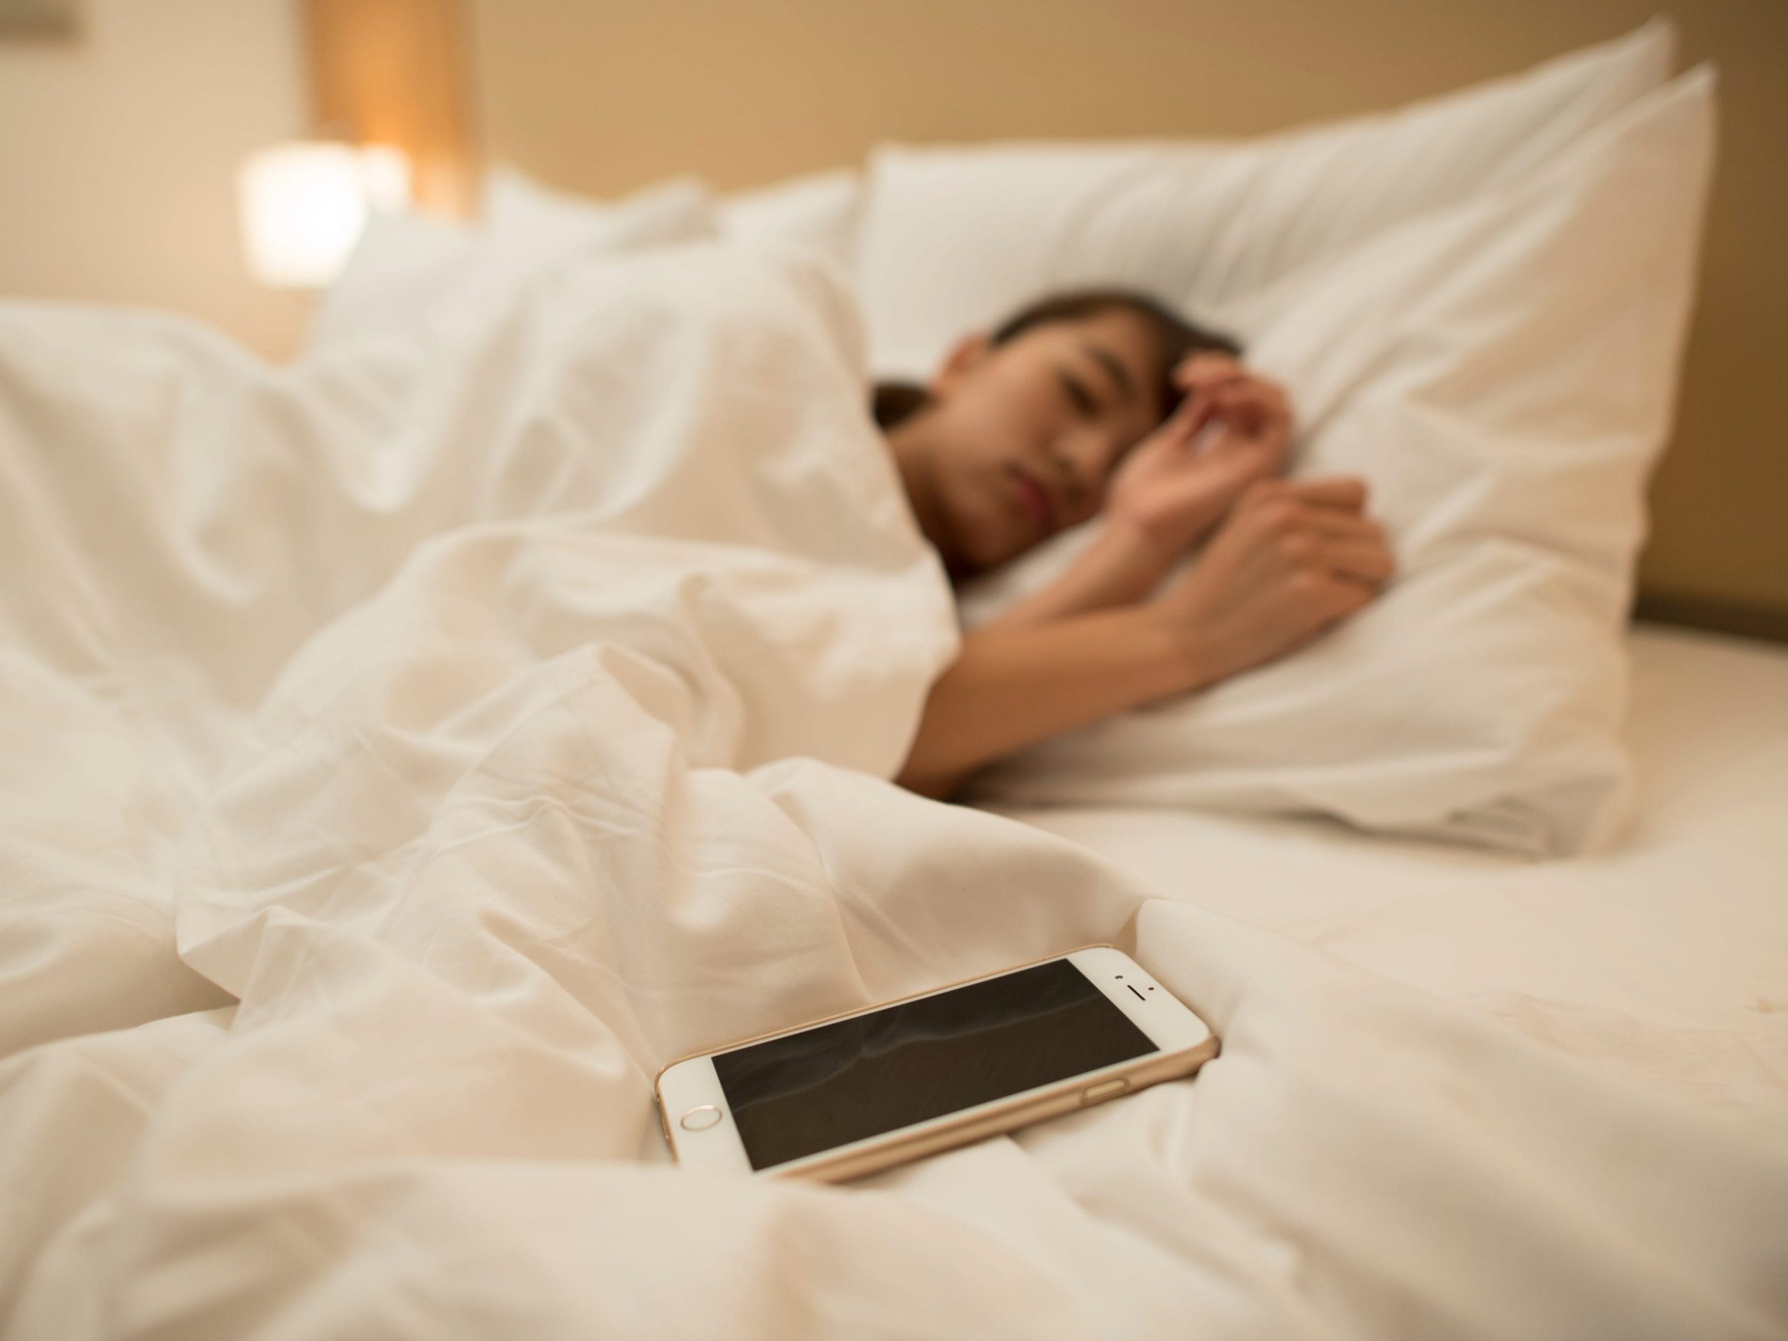
[[[304,302],[256,284],[236,166],[308,122],[291,0],[86,0],[0,43],[0,295],[175,308],[266,354]]]

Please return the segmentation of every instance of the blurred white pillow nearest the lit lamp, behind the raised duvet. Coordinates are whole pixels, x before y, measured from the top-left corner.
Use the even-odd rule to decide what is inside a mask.
[[[311,324],[308,354],[393,331],[476,327],[492,295],[561,261],[713,238],[713,197],[676,177],[610,204],[493,168],[477,225],[375,215]]]

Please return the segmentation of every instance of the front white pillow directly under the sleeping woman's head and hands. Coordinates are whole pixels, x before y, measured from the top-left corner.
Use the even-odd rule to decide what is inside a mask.
[[[1516,181],[1221,304],[1300,408],[1296,472],[1371,481],[1398,581],[1309,651],[1048,742],[978,796],[1323,812],[1536,855],[1604,846],[1627,785],[1620,635],[1693,295],[1713,93],[1693,70]]]

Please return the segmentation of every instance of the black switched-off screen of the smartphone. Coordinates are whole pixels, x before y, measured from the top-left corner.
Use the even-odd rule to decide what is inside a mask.
[[[715,1053],[753,1169],[1159,1051],[1067,960]]]

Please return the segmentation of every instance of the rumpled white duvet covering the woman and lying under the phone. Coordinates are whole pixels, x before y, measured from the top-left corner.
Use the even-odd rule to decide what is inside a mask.
[[[567,263],[286,372],[11,308],[0,501],[7,1337],[1788,1327],[1781,1132],[883,781],[957,628],[822,270]],[[667,1166],[667,1060],[1092,940],[1198,1080]]]

